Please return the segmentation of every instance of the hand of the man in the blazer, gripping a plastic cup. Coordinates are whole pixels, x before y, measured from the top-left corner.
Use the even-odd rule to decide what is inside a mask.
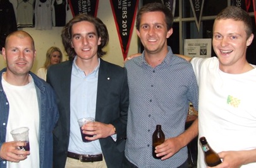
[[[97,140],[115,134],[113,125],[97,121],[83,125],[82,130],[85,134],[94,135],[94,137],[85,137],[87,140]]]

